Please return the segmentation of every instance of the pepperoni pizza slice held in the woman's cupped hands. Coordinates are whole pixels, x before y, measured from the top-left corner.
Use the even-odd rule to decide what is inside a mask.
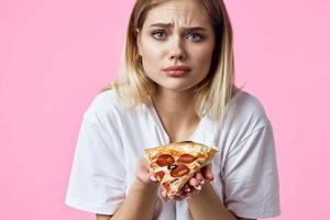
[[[184,141],[144,151],[150,172],[156,174],[167,196],[172,197],[180,191],[197,170],[211,162],[218,148]]]

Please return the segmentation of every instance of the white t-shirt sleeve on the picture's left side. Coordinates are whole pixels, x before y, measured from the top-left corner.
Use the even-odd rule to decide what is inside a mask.
[[[92,111],[86,112],[78,135],[66,205],[102,215],[112,215],[119,208],[125,197],[121,148],[114,124]]]

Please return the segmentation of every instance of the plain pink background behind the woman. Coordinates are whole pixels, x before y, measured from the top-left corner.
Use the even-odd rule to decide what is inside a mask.
[[[64,198],[81,116],[117,74],[133,1],[113,2],[0,1],[1,220],[92,217]],[[330,1],[227,3],[238,85],[261,99],[274,127],[276,219],[328,218]]]

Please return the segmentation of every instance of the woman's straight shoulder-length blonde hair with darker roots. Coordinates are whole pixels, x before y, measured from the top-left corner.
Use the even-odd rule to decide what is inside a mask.
[[[232,26],[222,0],[198,1],[213,28],[216,46],[210,73],[196,85],[195,110],[199,117],[208,113],[215,120],[221,121],[235,89]],[[102,89],[105,91],[113,88],[120,101],[128,108],[146,103],[148,97],[155,92],[156,84],[143,72],[135,30],[142,29],[148,10],[163,2],[165,0],[136,0],[129,20],[120,76]]]

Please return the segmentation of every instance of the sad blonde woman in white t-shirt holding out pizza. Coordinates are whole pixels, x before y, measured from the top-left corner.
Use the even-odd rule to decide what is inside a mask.
[[[234,87],[221,0],[138,0],[121,74],[84,116],[67,205],[98,220],[279,215],[272,125],[257,99]],[[185,140],[220,152],[166,198],[143,148]]]

